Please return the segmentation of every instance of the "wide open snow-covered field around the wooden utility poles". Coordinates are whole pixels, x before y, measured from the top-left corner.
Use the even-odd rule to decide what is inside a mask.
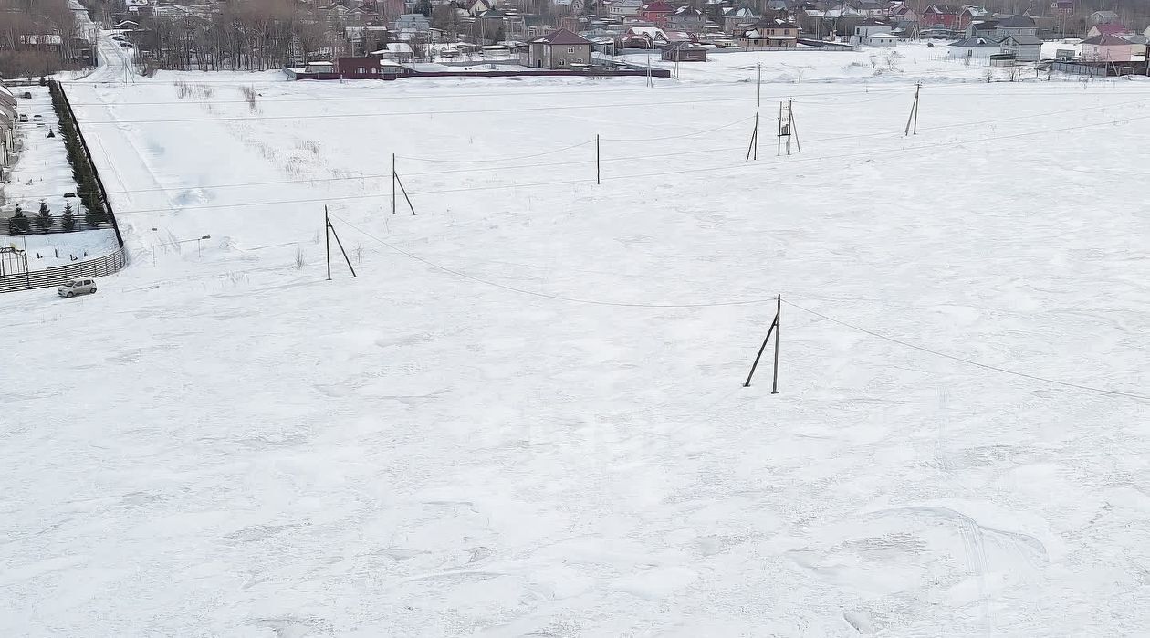
[[[739,64],[69,86],[133,261],[0,299],[0,635],[1143,631],[1150,85],[772,83],[744,162]]]

